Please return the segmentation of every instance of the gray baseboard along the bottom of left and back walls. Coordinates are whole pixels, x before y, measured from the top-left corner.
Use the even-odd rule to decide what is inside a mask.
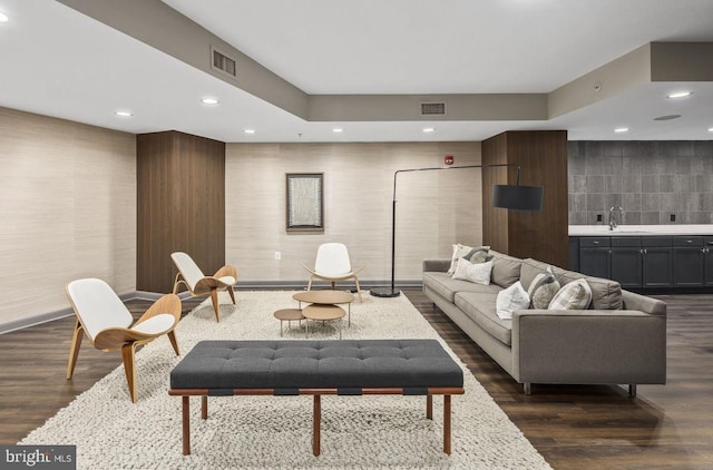
[[[362,291],[369,291],[372,287],[383,287],[391,285],[390,281],[364,281],[360,282]],[[312,283],[313,288],[329,288],[331,284],[325,282]],[[285,290],[285,291],[302,291],[307,287],[304,281],[253,281],[241,282],[235,291],[260,291],[260,290]],[[421,281],[399,281],[397,287],[421,287]],[[355,292],[354,283],[338,283],[336,288],[351,288]],[[123,302],[131,301],[135,298],[143,301],[157,301],[164,293],[147,292],[147,291],[131,291],[119,295]],[[178,298],[185,301],[191,298],[191,293],[185,291],[178,293]],[[65,319],[74,315],[75,312],[71,307],[61,309],[55,312],[42,313],[33,315],[27,319],[13,320],[6,323],[0,323],[0,334],[10,333],[12,331],[23,330],[30,326],[39,325],[42,323],[53,322],[55,320]]]

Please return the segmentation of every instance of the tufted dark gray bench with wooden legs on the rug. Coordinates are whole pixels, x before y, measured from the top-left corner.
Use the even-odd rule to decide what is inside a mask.
[[[436,340],[202,341],[170,372],[183,400],[183,453],[191,453],[189,398],[314,396],[312,452],[320,454],[321,395],[443,395],[443,452],[450,454],[450,396],[463,393],[462,370]]]

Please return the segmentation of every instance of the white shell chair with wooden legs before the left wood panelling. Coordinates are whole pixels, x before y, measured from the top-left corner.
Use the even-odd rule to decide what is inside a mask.
[[[188,292],[194,297],[211,295],[213,310],[215,311],[215,321],[221,321],[218,309],[218,292],[227,291],[235,305],[235,294],[233,286],[237,283],[237,271],[231,265],[221,267],[212,276],[206,276],[191,256],[183,252],[172,253],[170,258],[178,268],[176,281],[174,281],[174,294],[178,290],[178,284],[185,284]],[[183,278],[182,278],[183,277]]]

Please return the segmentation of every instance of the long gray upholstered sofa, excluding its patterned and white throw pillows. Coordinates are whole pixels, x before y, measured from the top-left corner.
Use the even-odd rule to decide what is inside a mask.
[[[495,251],[489,285],[453,280],[451,260],[423,261],[423,292],[472,341],[530,393],[533,383],[637,384],[666,382],[666,304],[627,292],[614,281],[551,267],[564,286],[585,278],[587,310],[496,313],[498,292],[520,281],[527,290],[548,265]]]

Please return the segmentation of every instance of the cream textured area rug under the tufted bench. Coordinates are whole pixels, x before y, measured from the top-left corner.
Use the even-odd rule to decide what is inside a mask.
[[[237,291],[235,306],[221,294],[219,323],[202,303],[176,329],[182,353],[202,340],[280,339],[273,312],[296,307],[292,294]],[[311,323],[310,339],[338,339],[339,326]],[[19,443],[77,445],[80,469],[550,468],[408,298],[365,294],[351,305],[351,325],[344,317],[341,326],[343,339],[437,339],[463,368],[466,393],[452,398],[451,456],[442,452],[441,396],[431,421],[423,396],[325,395],[320,457],[312,454],[311,396],[212,398],[207,420],[193,398],[192,454],[184,457],[180,398],[167,393],[180,358],[166,337],[137,353],[137,403],[117,368]],[[284,339],[304,336],[304,325],[285,323]]]

